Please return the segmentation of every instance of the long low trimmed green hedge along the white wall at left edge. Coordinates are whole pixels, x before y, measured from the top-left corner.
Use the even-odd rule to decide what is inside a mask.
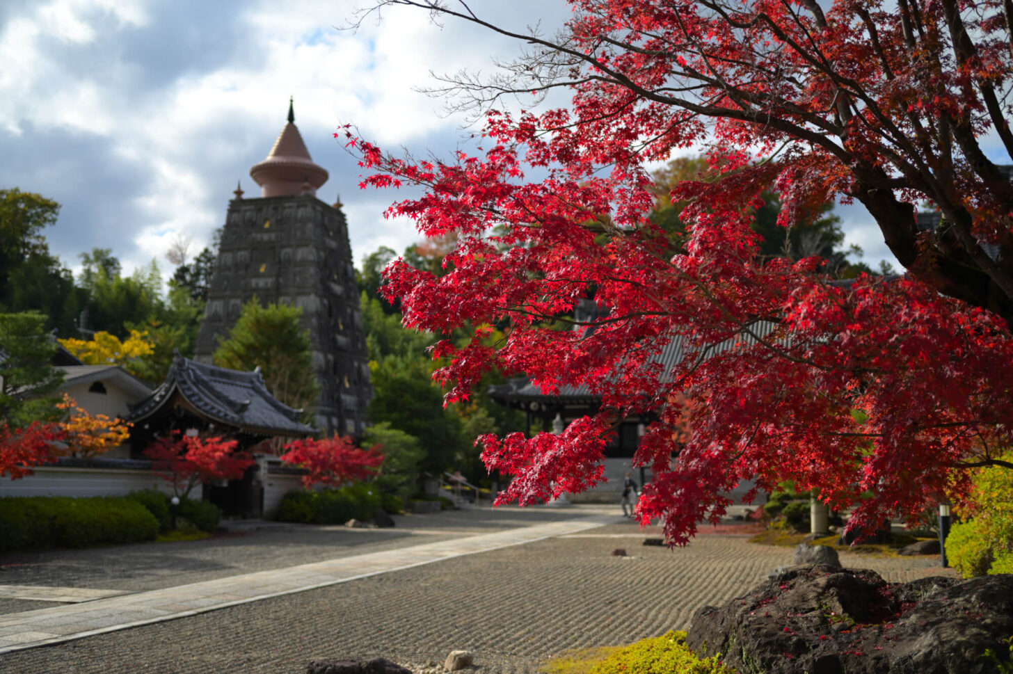
[[[0,498],[0,551],[154,540],[158,520],[124,496]]]

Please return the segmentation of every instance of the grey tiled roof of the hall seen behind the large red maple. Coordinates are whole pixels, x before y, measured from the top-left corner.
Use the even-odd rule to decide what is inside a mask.
[[[757,337],[765,338],[777,327],[778,324],[772,321],[757,321],[749,327],[749,333],[738,334],[731,339],[707,347],[700,356],[706,359],[718,353],[730,351],[738,345],[755,345],[758,343]],[[658,353],[648,359],[645,367],[653,367],[654,363],[659,364],[663,372],[661,382],[671,382],[673,370],[676,365],[682,362],[685,355],[687,340],[686,335],[674,335],[666,341]],[[545,394],[526,376],[513,378],[506,384],[493,385],[489,387],[488,394],[490,398],[501,404],[524,402],[589,404],[596,403],[599,399],[599,396],[593,393],[587,385],[559,387],[558,396]]]

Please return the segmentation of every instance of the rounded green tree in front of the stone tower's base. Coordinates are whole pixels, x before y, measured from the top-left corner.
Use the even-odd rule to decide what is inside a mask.
[[[243,305],[228,338],[219,338],[215,364],[241,370],[260,367],[267,390],[280,401],[296,409],[314,406],[320,386],[309,333],[299,322],[302,314],[302,309],[285,304],[261,307],[254,297]]]

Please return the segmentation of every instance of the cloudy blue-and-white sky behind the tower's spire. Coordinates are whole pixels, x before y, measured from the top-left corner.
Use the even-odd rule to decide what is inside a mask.
[[[447,157],[473,130],[413,90],[431,71],[492,70],[518,46],[457,22],[394,8],[341,29],[362,0],[3,0],[0,3],[0,187],[63,204],[47,232],[72,268],[111,248],[125,267],[160,260],[177,238],[191,253],[222,225],[239,180],[270,150],[295,97],[296,124],[330,172],[318,196],[340,195],[358,262],[416,239],[384,220],[395,198],[358,188],[359,168],[332,138],[355,123],[385,148]],[[523,31],[558,25],[562,0],[475,0]],[[888,251],[867,215],[839,209],[849,243],[873,265]]]

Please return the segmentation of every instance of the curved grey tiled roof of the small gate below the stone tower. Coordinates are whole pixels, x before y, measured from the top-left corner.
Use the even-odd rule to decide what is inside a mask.
[[[146,400],[131,406],[129,421],[157,412],[175,392],[209,420],[264,435],[311,435],[299,421],[301,410],[285,405],[267,391],[259,368],[241,372],[208,365],[176,354],[165,382]]]

